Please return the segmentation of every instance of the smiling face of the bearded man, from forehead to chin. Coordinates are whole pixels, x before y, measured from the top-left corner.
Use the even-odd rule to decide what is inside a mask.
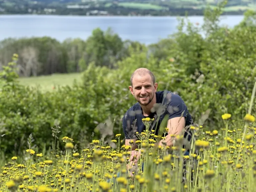
[[[154,85],[150,75],[146,74],[144,76],[135,75],[133,77],[132,85],[132,87],[129,86],[129,89],[134,95],[134,98],[141,105],[148,105],[154,98],[157,90],[157,83]]]

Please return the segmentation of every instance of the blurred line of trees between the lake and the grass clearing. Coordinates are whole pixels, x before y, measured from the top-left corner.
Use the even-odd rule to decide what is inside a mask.
[[[129,46],[136,45],[140,43],[122,41],[110,28],[93,30],[87,40],[66,39],[62,43],[51,37],[8,38],[0,42],[0,68],[14,53],[19,55],[18,74],[25,77],[82,72],[90,62],[113,68],[129,56]]]

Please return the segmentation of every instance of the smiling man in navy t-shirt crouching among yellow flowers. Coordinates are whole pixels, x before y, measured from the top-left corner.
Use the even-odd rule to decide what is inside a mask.
[[[168,135],[165,136],[165,140],[162,139],[157,145],[163,146],[163,143],[165,143],[166,146],[172,146],[174,141],[170,135],[183,133],[184,128],[192,124],[192,117],[179,95],[170,91],[157,91],[158,84],[155,82],[155,77],[150,70],[146,68],[135,70],[130,81],[129,90],[137,103],[123,117],[123,132],[125,134],[125,145],[131,145],[130,142],[132,140],[134,142],[130,158],[130,165],[132,165],[132,163],[137,163],[136,160],[133,161],[133,158],[139,159],[140,156],[140,150],[135,151],[137,138],[134,133],[141,133],[145,130],[145,125],[142,122],[143,118],[156,119],[156,117],[159,117],[157,127],[151,128],[151,130],[155,130],[155,134],[158,134],[159,125],[167,114]],[[157,104],[158,106],[156,106]],[[185,132],[184,138],[190,140],[191,136],[188,135],[188,132]],[[127,168],[129,169],[129,166]]]

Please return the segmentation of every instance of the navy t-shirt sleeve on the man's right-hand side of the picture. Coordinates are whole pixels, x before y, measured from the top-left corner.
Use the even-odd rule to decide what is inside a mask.
[[[166,111],[169,115],[169,119],[187,116],[187,106],[182,98],[177,94],[171,95],[171,100],[167,105]]]

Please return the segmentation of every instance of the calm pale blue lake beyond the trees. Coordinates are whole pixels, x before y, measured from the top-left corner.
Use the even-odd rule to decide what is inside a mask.
[[[243,15],[222,16],[220,24],[233,27]],[[203,16],[188,17],[192,23],[203,24]],[[50,36],[59,41],[67,38],[87,39],[93,29],[111,27],[123,40],[156,43],[177,32],[177,17],[127,16],[53,16],[0,15],[0,40],[5,38]]]

